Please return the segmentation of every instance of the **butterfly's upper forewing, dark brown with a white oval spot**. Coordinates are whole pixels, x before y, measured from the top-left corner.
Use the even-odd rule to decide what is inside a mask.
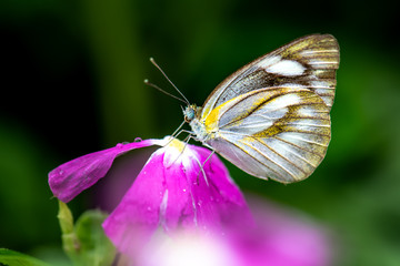
[[[249,91],[274,86],[302,86],[333,104],[339,44],[330,34],[294,40],[252,61],[222,81],[206,100],[202,117],[218,105]]]

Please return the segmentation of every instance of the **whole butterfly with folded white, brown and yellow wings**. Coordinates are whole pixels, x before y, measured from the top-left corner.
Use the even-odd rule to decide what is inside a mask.
[[[223,80],[184,121],[194,139],[250,175],[292,183],[323,160],[339,44],[330,34],[297,39]]]

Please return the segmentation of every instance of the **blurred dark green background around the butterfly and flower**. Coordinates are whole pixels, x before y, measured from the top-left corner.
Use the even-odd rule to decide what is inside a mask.
[[[296,38],[331,33],[341,64],[332,141],[320,167],[286,186],[227,165],[244,192],[299,208],[330,228],[337,265],[400,265],[400,38],[393,4],[0,1],[0,247],[57,254],[57,201],[47,173],[118,142],[162,137],[181,123],[181,104],[142,82],[174,93],[150,57],[201,104],[249,61]],[[96,206],[91,197],[83,193],[72,209]]]

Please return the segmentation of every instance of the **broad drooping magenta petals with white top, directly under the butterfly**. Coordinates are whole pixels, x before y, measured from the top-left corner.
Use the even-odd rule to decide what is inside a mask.
[[[153,153],[119,206],[103,223],[119,250],[134,255],[158,228],[173,235],[181,228],[223,234],[232,224],[252,223],[249,209],[228,171],[210,151],[187,145]]]

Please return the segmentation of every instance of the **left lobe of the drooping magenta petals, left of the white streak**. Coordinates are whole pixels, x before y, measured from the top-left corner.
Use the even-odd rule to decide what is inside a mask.
[[[164,195],[163,156],[153,154],[127,192],[122,202],[104,221],[106,234],[122,252],[149,242],[157,229]]]

